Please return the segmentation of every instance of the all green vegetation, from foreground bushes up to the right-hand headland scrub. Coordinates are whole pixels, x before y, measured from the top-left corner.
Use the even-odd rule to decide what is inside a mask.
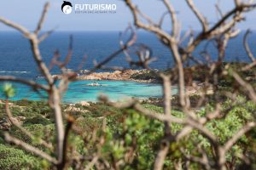
[[[229,64],[229,71],[238,69],[244,64]],[[220,69],[227,67],[227,64],[220,65]],[[193,81],[202,82],[205,77],[201,72],[207,72],[206,67],[193,66],[185,68],[186,81],[192,77]],[[168,71],[166,71],[168,72]],[[252,76],[249,71],[242,72],[241,77],[247,78]],[[160,82],[160,78],[156,76],[154,71],[144,72],[143,74],[133,75],[132,78]],[[212,80],[209,80],[211,82]],[[223,117],[213,119],[206,123],[207,129],[218,137],[219,144],[225,144],[237,131],[247,122],[254,119],[256,105],[249,101],[247,97],[240,95],[236,102],[222,95],[222,91],[228,90],[233,92],[237,90],[232,88],[236,86],[234,80],[227,74],[225,77],[219,77],[219,96]],[[249,80],[253,84],[254,80]],[[174,80],[175,82],[175,80]],[[10,84],[6,84],[3,88],[6,96],[15,94],[14,88]],[[196,116],[206,116],[209,112],[215,110],[216,99],[214,95],[207,94],[207,100],[204,101],[204,107],[196,108],[200,96],[190,95],[191,108],[196,111]],[[150,111],[163,114],[163,99],[148,99],[142,102],[142,105]],[[155,119],[143,116],[141,113],[132,109],[117,109],[102,103],[90,103],[90,105],[80,104],[63,104],[61,105],[63,116],[72,116],[75,120],[73,130],[68,138],[68,153],[76,150],[80,155],[92,156],[97,152],[101,153],[102,160],[108,162],[122,162],[122,169],[150,169],[154,165],[155,156],[160,149],[160,142],[164,136],[164,123]],[[55,122],[49,105],[44,101],[29,101],[26,99],[19,101],[10,101],[10,110],[16,117],[26,117],[21,120],[22,126],[25,127],[33,138],[22,133],[17,127],[9,127],[9,133],[17,139],[21,139],[27,144],[32,144],[40,150],[44,150],[51,156],[54,156],[55,149],[45,148],[38,143],[38,139],[44,139],[47,143],[55,143]],[[226,112],[225,112],[226,111]],[[180,111],[179,98],[177,95],[172,96],[172,115],[183,118],[185,115]],[[0,104],[0,119],[7,120],[5,114],[5,105]],[[106,127],[105,127],[106,123]],[[67,125],[67,123],[66,123]],[[172,133],[177,133],[183,129],[183,125],[172,123]],[[4,132],[3,132],[4,133]],[[22,150],[15,145],[6,144],[3,139],[3,133],[0,135],[0,169],[50,169],[49,163],[41,160],[37,156]],[[104,140],[102,142],[102,136]],[[256,131],[250,131],[239,139],[232,146],[226,155],[227,166],[234,166],[243,169],[243,164],[239,156],[246,155],[249,159],[256,157]],[[198,150],[201,146],[209,158],[213,162],[214,152],[212,144],[205,138],[202,133],[193,130],[185,138],[178,142],[172,142],[166,156],[164,164],[165,169],[174,169],[177,162],[184,165],[187,161],[185,155],[201,156]],[[55,146],[54,146],[55,147]],[[181,150],[182,149],[182,150]],[[72,154],[67,154],[72,156]],[[88,161],[84,161],[84,165],[88,165]],[[253,160],[255,162],[255,160]],[[70,165],[70,169],[75,169],[74,165]],[[201,169],[201,164],[190,162],[190,169]],[[249,165],[247,169],[256,168],[256,165]]]

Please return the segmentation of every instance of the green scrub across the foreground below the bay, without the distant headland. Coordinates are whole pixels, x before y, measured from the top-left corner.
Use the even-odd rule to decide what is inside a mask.
[[[23,126],[29,130],[36,139],[30,139],[19,129],[11,127],[10,133],[16,138],[22,139],[29,144],[37,145],[40,149],[49,152],[38,144],[37,138],[42,138],[47,142],[54,141],[54,122],[52,122],[49,107],[44,102],[35,102],[20,100],[12,102],[11,110],[15,116],[26,116]],[[243,103],[243,105],[240,105]],[[230,100],[222,104],[223,109],[233,106],[228,111],[224,119],[212,120],[207,122],[208,129],[218,136],[218,141],[224,144],[230,139],[237,130],[249,120],[253,119],[253,113],[256,106],[252,102],[247,102],[244,97],[237,99],[237,103]],[[143,106],[151,111],[163,113],[163,108],[157,105],[144,103]],[[70,105],[63,105],[63,111]],[[80,111],[66,111],[65,115],[72,115],[75,119],[75,127],[69,137],[69,144],[79,151],[80,154],[90,156],[96,152],[98,143],[97,139],[93,139],[93,135],[100,137],[102,133],[105,135],[104,144],[101,146],[102,157],[108,161],[124,160],[123,169],[150,169],[154,164],[157,150],[159,149],[160,139],[164,135],[164,125],[157,120],[149,119],[142,116],[137,111],[126,109],[119,110],[111,106],[101,103],[90,103],[88,106],[73,105],[80,108]],[[197,116],[205,116],[209,111],[213,110],[214,105],[209,104],[205,108],[197,111]],[[0,105],[0,117],[5,117],[3,104]],[[184,117],[181,111],[172,111],[177,117]],[[107,127],[102,130],[102,125],[106,117]],[[172,132],[175,133],[182,128],[181,125],[172,123]],[[79,133],[80,135],[77,135]],[[232,147],[227,155],[228,163],[236,162],[236,167],[241,166],[241,161],[237,156],[241,153],[249,154],[250,157],[256,156],[253,150],[256,132],[250,135],[244,135]],[[201,133],[194,130],[188,137],[182,139],[178,143],[174,142],[169,148],[169,154],[165,161],[165,168],[172,169],[177,161],[185,161],[183,152],[177,148],[183,148],[184,152],[188,152],[194,156],[200,156],[201,153],[196,150],[196,146],[200,144],[207,150],[207,156],[212,159],[212,146]],[[129,155],[129,150],[133,150],[133,154]],[[50,153],[50,152],[49,152]],[[88,163],[87,161],[84,164]],[[20,150],[19,147],[11,146],[0,140],[0,169],[46,169],[49,165],[45,161],[32,156],[31,154]],[[253,166],[253,165],[252,165]],[[191,169],[200,169],[201,165],[191,163]],[[253,168],[253,167],[251,167]]]

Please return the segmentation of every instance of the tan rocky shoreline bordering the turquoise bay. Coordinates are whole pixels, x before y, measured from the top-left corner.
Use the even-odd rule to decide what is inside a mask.
[[[158,71],[158,70],[154,70],[154,71]],[[113,71],[113,72],[109,72],[109,71],[105,71],[105,72],[93,72],[90,73],[88,75],[86,75],[86,73],[88,71],[84,70],[84,71],[79,71],[79,74],[76,77],[77,81],[91,81],[92,83],[87,84],[87,86],[91,86],[91,87],[102,87],[102,83],[101,82],[97,82],[97,81],[113,81],[113,82],[141,82],[141,83],[150,83],[150,84],[157,84],[157,85],[161,85],[160,83],[160,78],[156,76],[154,71],[148,71],[148,70],[125,70],[125,71]],[[53,77],[57,78],[57,79],[61,79],[61,75],[53,75]],[[186,91],[188,95],[196,95],[196,94],[201,94],[202,91],[207,90],[207,94],[212,94],[212,87],[206,87],[205,84],[203,82],[200,81],[195,81],[192,84],[196,84],[196,86],[190,85],[190,86],[186,86]],[[148,84],[148,86],[150,86]],[[172,87],[177,88],[177,82],[172,85]],[[174,94],[176,95],[176,94]],[[148,99],[152,99],[152,98],[161,98],[161,96],[154,96],[151,95],[148,97],[137,97],[137,99],[139,100],[148,100]],[[25,98],[26,99],[26,98]],[[1,99],[0,99],[1,100]],[[2,99],[4,100],[4,99]],[[20,99],[15,99],[15,100],[20,100]],[[31,99],[28,99],[31,100]],[[32,101],[40,101],[42,99],[38,99],[38,100],[32,100]],[[43,99],[44,100],[44,99]],[[63,103],[66,104],[79,104],[80,102],[93,102],[93,103],[97,103],[97,99],[82,99],[82,100],[76,100],[74,99],[73,101],[62,101]]]

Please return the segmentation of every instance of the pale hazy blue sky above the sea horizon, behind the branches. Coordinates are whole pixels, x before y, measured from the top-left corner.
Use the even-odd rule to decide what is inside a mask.
[[[190,26],[195,30],[200,29],[199,22],[195,20],[185,0],[170,0],[176,8],[178,19],[181,20],[183,30]],[[45,0],[2,0],[0,5],[0,16],[20,23],[30,30],[37,25]],[[44,25],[44,30],[57,26],[57,31],[122,31],[132,22],[131,12],[122,0],[70,0],[71,3],[115,3],[116,14],[63,14],[61,11],[61,0],[51,0],[49,14]],[[166,8],[160,0],[134,0],[141,10],[152,17],[155,21],[166,12]],[[201,13],[207,16],[210,23],[217,19],[214,4],[217,0],[195,0],[195,4]],[[73,5],[74,6],[74,5]],[[220,0],[220,7],[224,12],[234,7],[234,0]],[[73,8],[74,10],[74,8]],[[166,17],[165,29],[170,29],[170,18]],[[239,27],[242,30],[256,29],[256,12],[247,14],[247,20]],[[0,24],[0,31],[11,30]]]

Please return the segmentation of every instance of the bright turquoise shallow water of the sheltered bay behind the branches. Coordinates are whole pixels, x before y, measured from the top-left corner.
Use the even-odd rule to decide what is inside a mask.
[[[88,84],[95,81],[79,81],[71,82],[64,95],[63,101],[68,103],[76,103],[79,101],[97,101],[99,94],[108,95],[111,100],[125,99],[136,97],[137,99],[145,99],[149,97],[160,97],[162,89],[160,84],[142,83],[142,82],[127,82],[127,81],[96,81],[102,86],[91,87]],[[31,88],[15,84],[15,97],[13,100],[30,99],[40,100],[46,99],[45,94],[38,95]],[[176,93],[177,89],[173,88],[172,93]],[[3,99],[3,94],[0,95]]]

